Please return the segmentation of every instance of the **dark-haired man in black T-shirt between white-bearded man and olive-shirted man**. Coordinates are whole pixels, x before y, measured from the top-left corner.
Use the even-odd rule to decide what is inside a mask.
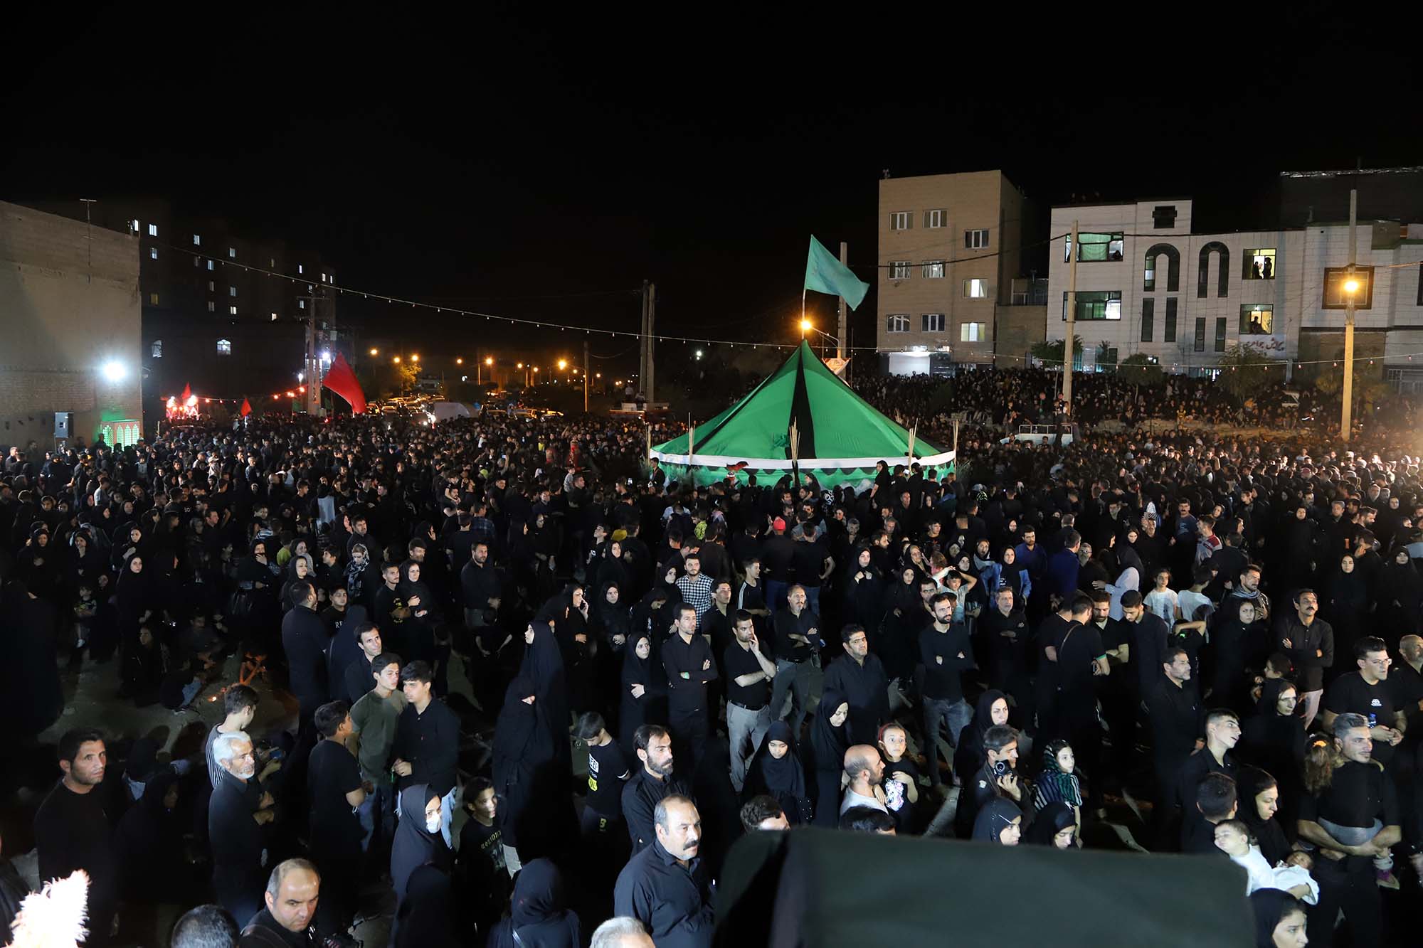
[[[346,928],[356,910],[361,831],[357,807],[374,791],[361,780],[356,757],[346,749],[351,734],[350,706],[330,702],[316,709],[316,733],[306,771],[310,814],[307,827],[312,858],[326,878],[326,910],[337,929]]]

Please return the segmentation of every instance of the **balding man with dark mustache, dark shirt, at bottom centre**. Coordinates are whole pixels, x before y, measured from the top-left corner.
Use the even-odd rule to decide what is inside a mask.
[[[629,860],[613,888],[613,912],[640,921],[659,945],[710,948],[716,914],[702,860],[702,817],[684,796],[655,811],[656,840]]]

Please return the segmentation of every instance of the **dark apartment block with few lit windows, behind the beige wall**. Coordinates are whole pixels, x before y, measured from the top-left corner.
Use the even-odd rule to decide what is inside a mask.
[[[46,205],[83,221],[80,202]],[[191,386],[215,399],[270,399],[305,381],[307,315],[317,349],[351,357],[334,327],[336,273],[320,253],[280,239],[253,239],[213,218],[161,199],[101,199],[88,206],[95,229],[138,242],[142,305],[144,409]],[[313,309],[314,307],[314,309]],[[299,380],[297,374],[303,379]],[[283,406],[289,401],[282,401]]]

